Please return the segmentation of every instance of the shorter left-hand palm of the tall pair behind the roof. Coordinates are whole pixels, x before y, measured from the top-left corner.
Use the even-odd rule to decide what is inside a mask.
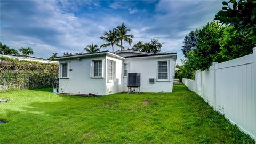
[[[118,47],[123,48],[123,46],[118,44],[119,39],[117,37],[116,29],[113,29],[112,31],[109,30],[108,32],[104,31],[104,36],[101,36],[100,39],[102,39],[106,42],[109,42],[109,43],[106,43],[106,44],[102,44],[100,47],[108,47],[108,46],[111,45],[112,46],[112,52],[114,52],[114,45],[117,45]]]

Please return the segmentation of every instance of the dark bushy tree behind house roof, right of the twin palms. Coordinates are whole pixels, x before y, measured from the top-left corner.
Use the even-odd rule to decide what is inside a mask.
[[[149,43],[142,43],[139,41],[134,44],[131,50],[149,52],[149,53],[161,53],[162,43],[158,42],[158,39],[151,39]]]

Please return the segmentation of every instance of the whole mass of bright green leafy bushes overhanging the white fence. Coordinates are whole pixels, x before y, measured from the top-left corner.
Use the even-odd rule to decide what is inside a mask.
[[[221,26],[212,21],[199,30],[196,47],[187,54],[187,66],[192,70],[205,70],[212,62],[223,62],[252,53],[253,43],[248,31],[234,26]]]

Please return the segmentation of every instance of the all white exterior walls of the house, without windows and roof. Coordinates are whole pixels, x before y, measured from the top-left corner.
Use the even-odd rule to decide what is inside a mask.
[[[92,61],[102,60],[102,77],[92,77]],[[115,81],[109,81],[109,60],[115,61]],[[157,81],[158,61],[169,61],[169,80]],[[68,78],[61,77],[61,63],[68,63]],[[59,93],[108,95],[127,91],[124,63],[128,73],[141,73],[141,92],[172,92],[175,60],[169,57],[137,57],[121,59],[115,55],[94,55],[81,59],[61,59],[59,65]],[[71,69],[71,71],[70,71]],[[154,78],[155,83],[149,83]]]

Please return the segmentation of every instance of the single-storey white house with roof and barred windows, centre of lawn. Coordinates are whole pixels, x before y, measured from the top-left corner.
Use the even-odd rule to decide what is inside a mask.
[[[59,93],[126,92],[127,74],[141,74],[141,92],[172,92],[177,53],[152,54],[123,50],[57,57]],[[154,83],[149,83],[154,78]]]

